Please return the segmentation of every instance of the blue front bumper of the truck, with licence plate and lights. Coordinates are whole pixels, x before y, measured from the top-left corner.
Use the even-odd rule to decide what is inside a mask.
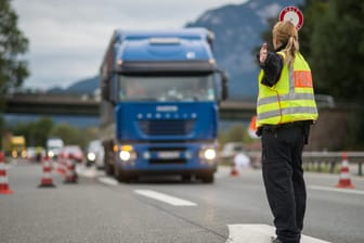
[[[216,143],[132,144],[131,159],[116,155],[116,166],[135,175],[206,175],[217,170],[218,156],[205,158],[206,149],[217,151]]]

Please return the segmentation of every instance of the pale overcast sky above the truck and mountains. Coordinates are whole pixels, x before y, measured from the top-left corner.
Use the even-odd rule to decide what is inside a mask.
[[[205,11],[247,0],[12,0],[29,39],[24,86],[68,87],[98,74],[115,28],[179,28]]]

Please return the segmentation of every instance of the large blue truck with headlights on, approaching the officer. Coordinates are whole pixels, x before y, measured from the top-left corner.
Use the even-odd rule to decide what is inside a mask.
[[[205,28],[115,30],[103,59],[100,138],[107,175],[212,183],[227,78]]]

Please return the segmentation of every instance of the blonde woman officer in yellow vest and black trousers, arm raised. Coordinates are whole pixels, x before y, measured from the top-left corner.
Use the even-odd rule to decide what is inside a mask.
[[[306,212],[302,150],[318,115],[294,24],[275,24],[273,47],[270,52],[264,43],[258,55],[257,135],[262,137],[263,181],[277,235],[272,242],[299,243]]]

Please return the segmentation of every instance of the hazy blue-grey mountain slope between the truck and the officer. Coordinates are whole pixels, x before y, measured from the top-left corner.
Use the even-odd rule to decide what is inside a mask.
[[[302,1],[296,1],[300,3]],[[278,18],[280,11],[291,2],[250,0],[206,11],[186,27],[206,27],[214,33],[218,64],[229,73],[232,99],[255,99],[258,92],[258,65],[252,50],[262,43],[261,34],[269,17]]]

